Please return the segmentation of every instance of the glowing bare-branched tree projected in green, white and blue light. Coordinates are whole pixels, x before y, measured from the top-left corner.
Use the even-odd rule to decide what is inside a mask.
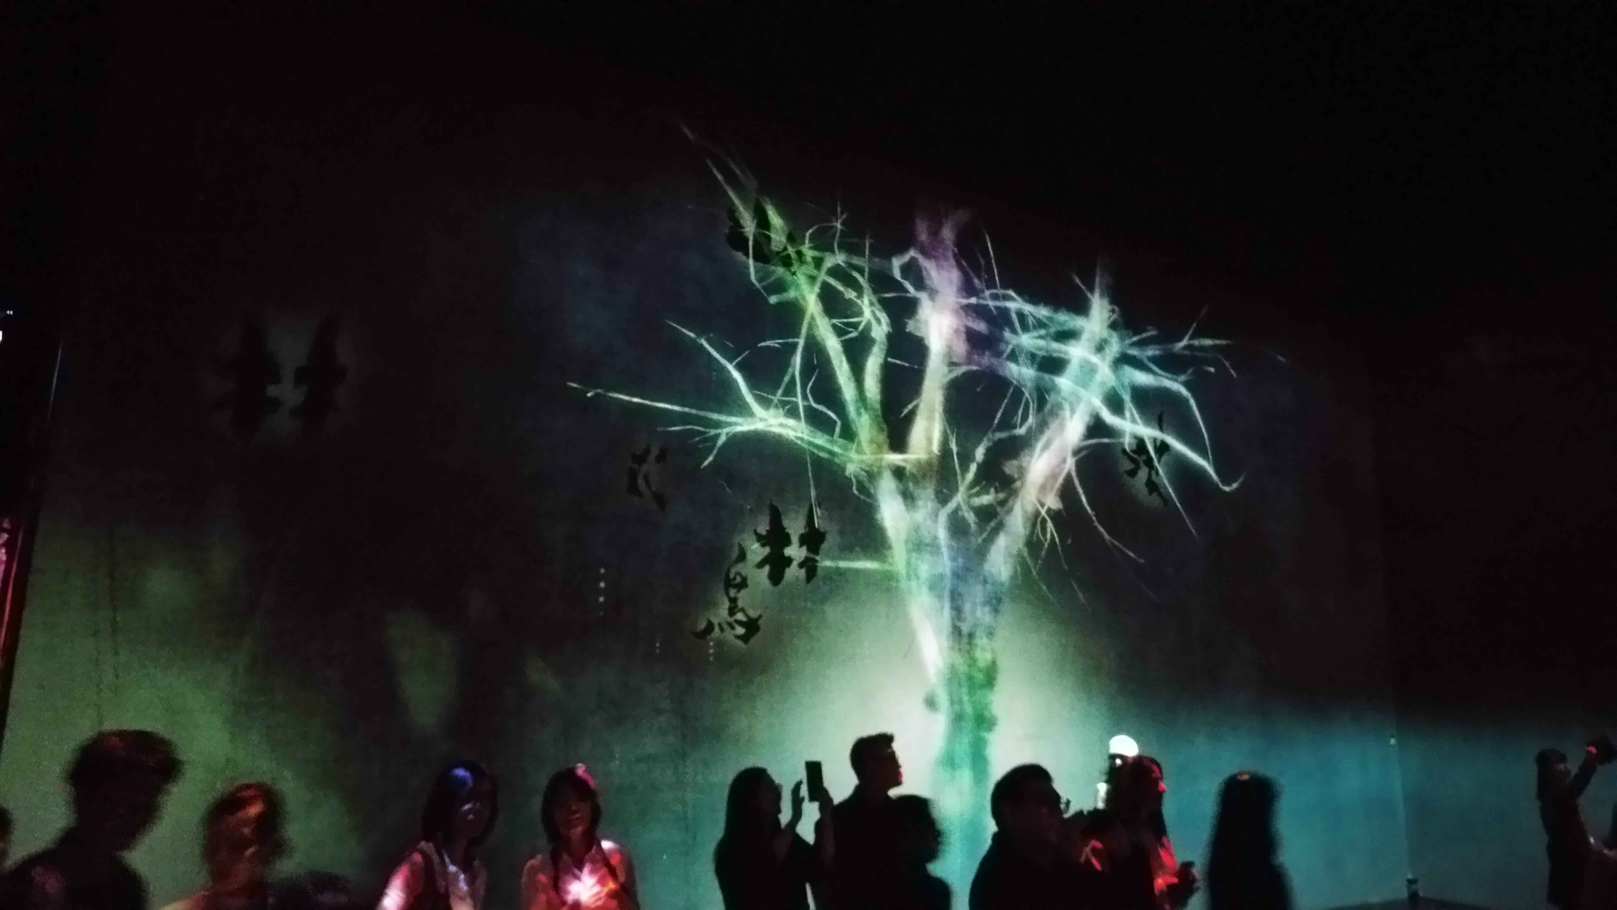
[[[726,356],[674,325],[711,357],[729,407],[574,388],[678,414],[682,423],[668,428],[705,441],[703,464],[733,438],[762,433],[852,478],[884,533],[878,564],[899,579],[933,684],[928,701],[944,719],[935,797],[949,844],[957,860],[975,862],[986,845],[994,630],[1017,567],[1056,541],[1064,496],[1100,540],[1138,559],[1090,506],[1079,472],[1088,453],[1172,453],[1219,488],[1235,487],[1213,466],[1187,385],[1224,364],[1222,343],[1125,331],[1104,273],[1083,289],[1083,312],[1028,301],[999,286],[991,247],[982,273],[967,268],[957,252],[964,213],[917,217],[910,249],[881,259],[868,239],[849,238],[841,213],[799,234],[744,168],[718,154],[708,166],[729,200],[729,246],[754,286],[800,315],[796,338],[744,351],[775,351],[779,375],[758,375],[766,357]],[[918,336],[922,362],[889,356],[894,325]],[[889,401],[901,385],[914,398],[906,388],[904,401]],[[1172,420],[1158,419],[1164,409]],[[1176,435],[1176,425],[1193,433]],[[1145,446],[1130,448],[1137,441]],[[1156,478],[1188,524],[1169,477]]]

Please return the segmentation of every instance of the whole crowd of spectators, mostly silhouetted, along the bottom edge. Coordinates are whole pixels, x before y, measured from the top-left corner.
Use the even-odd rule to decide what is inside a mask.
[[[1547,899],[1559,910],[1617,910],[1617,813],[1602,840],[1590,836],[1580,797],[1596,769],[1617,760],[1604,735],[1573,771],[1565,753],[1536,756],[1539,816],[1547,836]],[[849,752],[854,792],[834,802],[810,763],[808,787],[787,792],[765,768],[736,774],[713,871],[724,910],[948,910],[949,886],[930,871],[943,836],[931,803],[894,795],[904,769],[891,734],[860,737]],[[125,862],[155,821],[181,773],[173,745],[147,731],[105,731],[68,769],[73,823],[49,849],[0,878],[0,910],[147,910],[146,884]],[[1163,815],[1163,765],[1114,753],[1098,805],[1069,811],[1049,771],[1022,765],[994,784],[993,839],[977,865],[970,910],[1182,910],[1203,879],[1180,862]],[[787,810],[789,800],[789,811]],[[1277,858],[1274,781],[1224,781],[1208,853],[1211,910],[1289,910]],[[797,832],[813,802],[813,840]],[[783,813],[786,818],[783,819]],[[479,849],[500,818],[495,774],[477,761],[445,768],[420,813],[420,840],[386,878],[377,910],[482,910],[488,870]],[[547,847],[521,870],[519,910],[640,910],[629,850],[602,837],[603,808],[590,773],[556,771],[540,800]],[[289,850],[277,789],[230,787],[207,808],[201,832],[207,884],[165,910],[369,910],[340,876],[277,878]],[[11,816],[0,808],[0,868]]]

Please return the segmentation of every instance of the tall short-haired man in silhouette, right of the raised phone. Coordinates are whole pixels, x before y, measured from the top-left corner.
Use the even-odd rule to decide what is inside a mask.
[[[831,866],[833,907],[888,910],[899,879],[899,816],[891,792],[904,782],[904,766],[893,734],[854,740],[847,753],[859,784],[836,805],[836,863]]]

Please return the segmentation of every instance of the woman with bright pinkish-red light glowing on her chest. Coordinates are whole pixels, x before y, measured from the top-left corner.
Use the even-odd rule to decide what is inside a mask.
[[[600,837],[600,794],[582,765],[551,774],[538,811],[550,849],[522,866],[521,910],[640,910],[634,863]]]

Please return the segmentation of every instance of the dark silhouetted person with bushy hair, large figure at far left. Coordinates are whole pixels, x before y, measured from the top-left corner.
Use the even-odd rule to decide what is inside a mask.
[[[6,910],[146,910],[146,883],[121,853],[157,821],[179,760],[149,731],[102,731],[79,747],[68,786],[73,826],[0,883]]]

